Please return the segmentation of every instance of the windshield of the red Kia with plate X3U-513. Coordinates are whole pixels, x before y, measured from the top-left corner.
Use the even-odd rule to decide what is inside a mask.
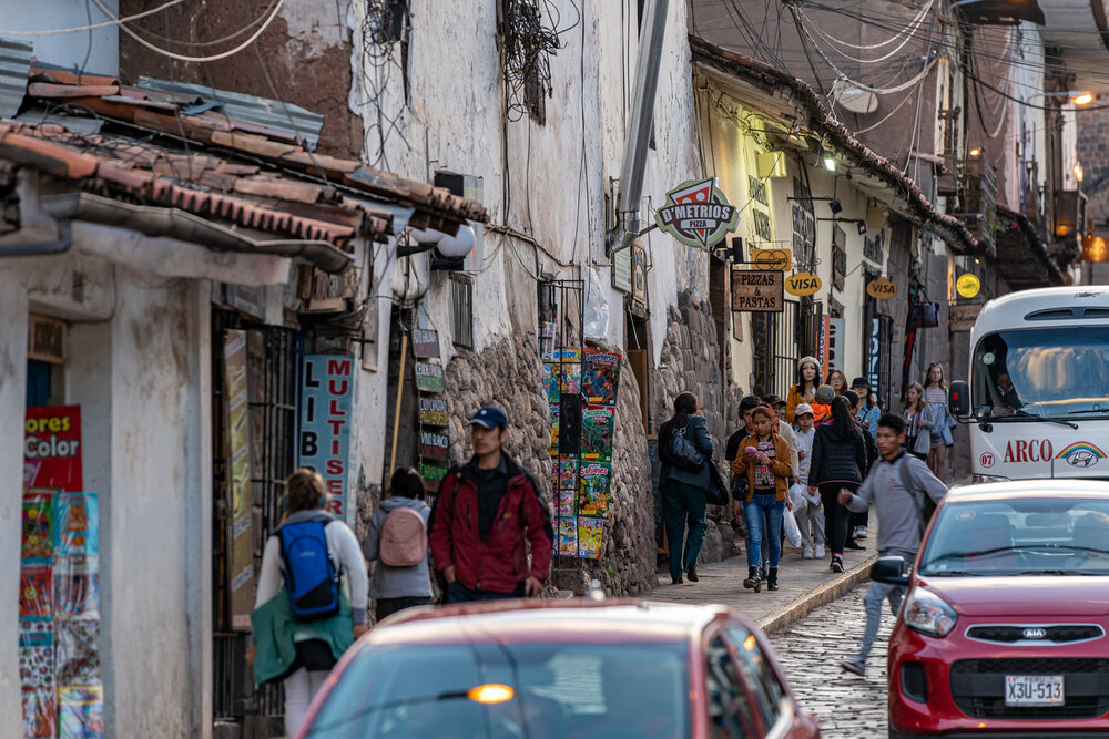
[[[1109,575],[1109,500],[950,501],[936,513],[922,575]]]

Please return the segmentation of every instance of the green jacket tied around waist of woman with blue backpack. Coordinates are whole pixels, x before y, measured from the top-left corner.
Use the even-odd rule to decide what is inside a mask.
[[[254,629],[254,681],[258,685],[287,677],[296,660],[295,634],[311,632],[309,638],[323,639],[336,659],[354,644],[350,601],[339,593],[339,612],[330,618],[302,622],[293,614],[288,592],[282,588],[251,614]]]

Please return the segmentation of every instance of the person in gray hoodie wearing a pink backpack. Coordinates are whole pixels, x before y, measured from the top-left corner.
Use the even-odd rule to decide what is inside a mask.
[[[400,468],[389,481],[388,496],[370,517],[362,551],[367,562],[377,563],[369,581],[376,620],[430,603],[427,530],[431,509],[425,497],[419,473]]]

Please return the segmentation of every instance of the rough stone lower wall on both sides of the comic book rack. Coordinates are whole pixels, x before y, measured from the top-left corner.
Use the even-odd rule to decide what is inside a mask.
[[[472,454],[466,425],[472,414],[488,403],[500,406],[509,417],[506,451],[535,475],[543,497],[551,501],[550,411],[536,337],[513,335],[480,355],[461,350],[445,374],[451,460],[460,462]],[[597,578],[613,595],[639,595],[654,586],[651,468],[639,387],[627,361],[620,373],[612,452],[612,492],[601,558],[586,561],[581,573],[556,573],[551,577],[556,587],[581,594]]]

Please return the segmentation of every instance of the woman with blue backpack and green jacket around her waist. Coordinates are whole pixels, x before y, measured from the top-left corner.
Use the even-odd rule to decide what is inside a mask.
[[[367,578],[354,532],[324,510],[318,472],[294,472],[282,504],[262,554],[247,660],[258,685],[284,681],[285,731],[294,737],[327,673],[366,632]]]

